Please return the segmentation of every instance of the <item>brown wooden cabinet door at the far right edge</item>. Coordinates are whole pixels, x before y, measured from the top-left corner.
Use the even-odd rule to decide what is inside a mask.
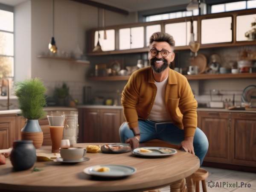
[[[232,163],[256,166],[256,113],[231,113]]]

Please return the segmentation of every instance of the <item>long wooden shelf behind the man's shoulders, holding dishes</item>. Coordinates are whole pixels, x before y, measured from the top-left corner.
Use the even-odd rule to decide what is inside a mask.
[[[90,81],[127,81],[130,76],[102,76],[88,77]],[[199,74],[185,75],[188,80],[207,80],[207,79],[248,79],[256,78],[256,73],[238,73],[238,74]]]

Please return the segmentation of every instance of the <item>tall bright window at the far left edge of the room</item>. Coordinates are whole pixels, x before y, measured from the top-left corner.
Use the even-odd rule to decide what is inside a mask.
[[[13,12],[0,9],[0,78],[14,76]]]

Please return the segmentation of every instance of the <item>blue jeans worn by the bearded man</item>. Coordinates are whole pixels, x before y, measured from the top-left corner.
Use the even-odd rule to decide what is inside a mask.
[[[163,140],[168,143],[179,145],[184,140],[184,130],[177,128],[170,122],[152,122],[150,120],[140,120],[140,143],[149,140]],[[128,138],[134,137],[133,131],[128,127],[127,123],[121,125],[119,128],[120,141],[125,143]],[[195,155],[200,160],[202,165],[204,157],[208,150],[208,140],[201,129],[196,128],[193,141]]]

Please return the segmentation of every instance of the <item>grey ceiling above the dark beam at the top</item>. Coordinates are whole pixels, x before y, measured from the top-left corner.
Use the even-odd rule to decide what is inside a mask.
[[[0,3],[9,6],[16,6],[27,0],[0,0]],[[95,2],[125,10],[127,12],[161,9],[170,6],[188,4],[189,0],[80,0],[80,2]]]

